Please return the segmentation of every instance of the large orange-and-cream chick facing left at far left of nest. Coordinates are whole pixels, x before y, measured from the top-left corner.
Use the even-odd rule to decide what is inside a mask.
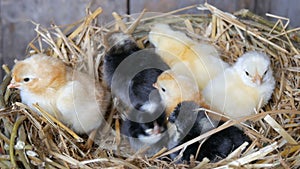
[[[104,121],[109,93],[88,75],[44,54],[16,62],[9,88],[20,90],[22,102],[38,103],[77,133],[87,133]]]

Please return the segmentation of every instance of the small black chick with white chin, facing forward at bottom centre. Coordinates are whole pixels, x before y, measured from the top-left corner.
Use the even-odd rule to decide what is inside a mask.
[[[167,147],[169,134],[164,113],[158,117],[148,112],[131,115],[134,117],[123,121],[121,132],[129,140],[132,150],[146,149],[145,155],[153,156],[163,147]]]

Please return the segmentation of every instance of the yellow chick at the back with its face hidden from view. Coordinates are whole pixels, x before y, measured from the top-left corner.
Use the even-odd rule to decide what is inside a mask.
[[[200,90],[229,67],[213,45],[194,41],[166,24],[154,25],[149,33],[149,41],[173,71],[195,78]]]

